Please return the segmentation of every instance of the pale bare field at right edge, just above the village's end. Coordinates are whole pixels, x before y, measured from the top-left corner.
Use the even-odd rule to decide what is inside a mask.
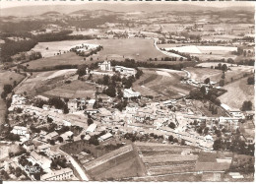
[[[243,78],[239,81],[224,86],[224,90],[227,90],[227,92],[219,97],[222,103],[231,108],[241,108],[243,101],[251,100],[253,103],[253,109],[255,109],[254,86],[247,85],[247,78]]]

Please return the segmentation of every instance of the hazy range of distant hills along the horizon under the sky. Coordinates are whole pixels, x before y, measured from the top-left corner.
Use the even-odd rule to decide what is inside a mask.
[[[1,16],[17,16],[17,17],[27,17],[27,16],[39,16],[47,12],[58,12],[60,14],[74,14],[76,11],[95,11],[104,10],[112,12],[160,12],[160,11],[178,11],[178,12],[194,12],[194,11],[221,11],[221,10],[243,10],[243,11],[254,11],[254,7],[211,7],[210,6],[198,6],[191,4],[181,4],[176,2],[165,2],[165,3],[122,3],[122,2],[98,2],[98,3],[85,3],[81,5],[40,5],[40,6],[23,6],[13,7],[13,8],[3,8],[1,9]],[[57,10],[57,11],[56,11]]]

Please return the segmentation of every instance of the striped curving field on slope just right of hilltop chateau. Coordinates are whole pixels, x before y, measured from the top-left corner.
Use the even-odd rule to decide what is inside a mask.
[[[133,89],[142,95],[162,95],[163,97],[180,97],[190,91],[190,87],[180,83],[185,77],[183,71],[167,69],[143,69],[143,76],[133,84]]]

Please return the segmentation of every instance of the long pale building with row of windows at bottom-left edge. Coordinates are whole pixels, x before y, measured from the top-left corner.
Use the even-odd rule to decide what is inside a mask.
[[[41,176],[41,180],[46,181],[62,181],[71,180],[74,177],[73,170],[71,168],[62,168],[60,170],[50,171]]]

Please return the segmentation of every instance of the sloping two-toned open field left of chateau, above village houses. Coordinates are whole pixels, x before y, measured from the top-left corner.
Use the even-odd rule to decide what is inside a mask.
[[[71,80],[70,84],[64,82],[69,80],[75,70],[59,70],[49,72],[35,72],[17,93],[27,92],[28,95],[42,94],[45,96],[61,97],[93,97],[96,92],[95,86],[79,80]],[[75,76],[74,76],[75,77]]]

